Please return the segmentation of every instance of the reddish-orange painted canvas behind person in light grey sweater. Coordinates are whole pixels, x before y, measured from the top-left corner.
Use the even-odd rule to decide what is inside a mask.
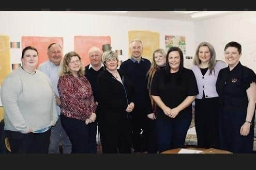
[[[63,47],[63,37],[28,37],[21,38],[21,47],[34,46],[38,50],[38,65],[48,60],[47,47],[51,43],[58,43]]]

